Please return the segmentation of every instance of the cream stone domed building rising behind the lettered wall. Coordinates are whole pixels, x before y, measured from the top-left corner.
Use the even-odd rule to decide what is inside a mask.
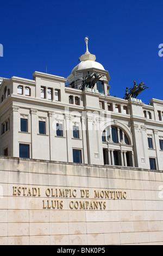
[[[81,90],[89,72],[101,78]],[[163,101],[111,96],[109,80],[88,50],[67,78],[2,78],[0,154],[162,170]]]

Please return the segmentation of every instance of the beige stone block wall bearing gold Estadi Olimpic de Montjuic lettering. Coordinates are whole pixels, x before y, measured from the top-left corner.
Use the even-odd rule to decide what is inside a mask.
[[[0,244],[163,245],[162,190],[162,172],[1,157]]]

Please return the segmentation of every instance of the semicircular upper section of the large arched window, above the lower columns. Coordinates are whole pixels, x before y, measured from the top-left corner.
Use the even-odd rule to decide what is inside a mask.
[[[102,133],[102,141],[130,144],[126,133],[117,126],[108,126]]]

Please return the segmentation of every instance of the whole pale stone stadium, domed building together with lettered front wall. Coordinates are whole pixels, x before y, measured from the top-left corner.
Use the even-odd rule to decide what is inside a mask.
[[[163,101],[111,96],[87,40],[79,59],[0,79],[0,245],[162,245]]]

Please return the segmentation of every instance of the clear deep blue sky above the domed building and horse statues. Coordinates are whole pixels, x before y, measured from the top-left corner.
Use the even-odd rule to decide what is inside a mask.
[[[112,96],[123,97],[133,81],[149,89],[139,98],[162,97],[162,0],[1,1],[0,77],[33,79],[40,71],[67,77],[89,51],[109,71]]]

